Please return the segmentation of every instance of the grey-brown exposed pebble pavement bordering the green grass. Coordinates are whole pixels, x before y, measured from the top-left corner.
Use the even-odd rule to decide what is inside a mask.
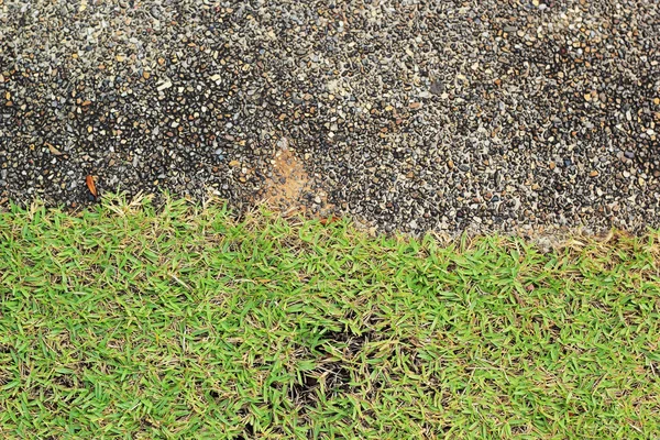
[[[286,144],[301,202],[386,231],[641,231],[659,45],[652,0],[0,0],[0,200],[242,208]]]

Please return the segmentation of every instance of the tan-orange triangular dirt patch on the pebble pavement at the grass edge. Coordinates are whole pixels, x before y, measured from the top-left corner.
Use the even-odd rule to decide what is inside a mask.
[[[271,175],[261,193],[262,204],[285,217],[297,213],[324,217],[332,212],[328,194],[309,176],[288,139],[277,142]]]

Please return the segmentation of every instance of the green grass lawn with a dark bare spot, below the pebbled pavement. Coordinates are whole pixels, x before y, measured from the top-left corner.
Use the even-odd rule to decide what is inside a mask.
[[[3,439],[648,439],[660,245],[0,212]]]

